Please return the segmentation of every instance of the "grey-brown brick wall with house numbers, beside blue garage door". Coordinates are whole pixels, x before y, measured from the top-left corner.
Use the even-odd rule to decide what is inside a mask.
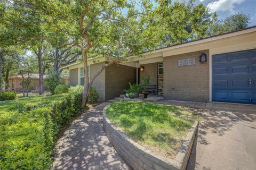
[[[199,56],[207,54],[207,63]],[[178,60],[195,57],[195,65],[178,66]],[[164,98],[209,101],[209,50],[164,57]]]

